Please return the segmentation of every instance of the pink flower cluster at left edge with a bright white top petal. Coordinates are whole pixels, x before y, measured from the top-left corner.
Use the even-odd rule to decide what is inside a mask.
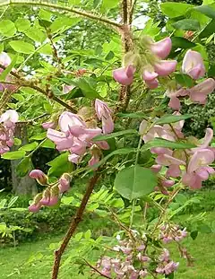
[[[10,151],[13,146],[15,123],[18,121],[19,115],[13,110],[9,109],[4,112],[0,117],[0,154]]]

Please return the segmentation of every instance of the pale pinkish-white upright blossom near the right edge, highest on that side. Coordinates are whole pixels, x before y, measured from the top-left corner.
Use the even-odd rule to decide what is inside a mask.
[[[182,72],[190,75],[194,80],[205,74],[202,56],[199,52],[189,49],[182,63]]]

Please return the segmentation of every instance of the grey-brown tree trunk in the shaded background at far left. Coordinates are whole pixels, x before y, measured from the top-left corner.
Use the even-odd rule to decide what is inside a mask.
[[[22,140],[22,145],[28,144],[26,126],[17,124],[14,136]],[[13,146],[12,151],[17,149],[17,146]],[[34,179],[30,179],[28,175],[21,178],[16,173],[16,167],[20,161],[22,160],[11,161],[13,193],[17,196],[35,196],[38,192],[36,181]]]

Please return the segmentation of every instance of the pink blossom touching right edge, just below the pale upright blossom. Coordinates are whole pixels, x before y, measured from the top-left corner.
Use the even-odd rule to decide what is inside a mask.
[[[203,81],[195,85],[193,88],[189,90],[190,92],[190,99],[193,102],[198,102],[200,104],[205,104],[207,100],[208,94],[213,92],[215,89],[215,81],[212,78],[208,78],[207,80]]]

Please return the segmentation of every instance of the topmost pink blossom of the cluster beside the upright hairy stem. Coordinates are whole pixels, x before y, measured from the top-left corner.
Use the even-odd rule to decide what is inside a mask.
[[[172,48],[172,41],[169,37],[161,39],[150,46],[150,50],[153,54],[161,59],[168,57]]]

